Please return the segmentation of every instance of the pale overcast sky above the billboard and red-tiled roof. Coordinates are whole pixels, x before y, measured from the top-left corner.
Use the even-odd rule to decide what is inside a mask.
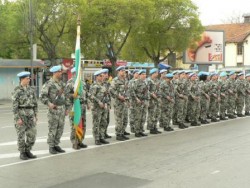
[[[250,0],[192,0],[199,7],[203,25],[223,24],[232,17],[250,13]]]

